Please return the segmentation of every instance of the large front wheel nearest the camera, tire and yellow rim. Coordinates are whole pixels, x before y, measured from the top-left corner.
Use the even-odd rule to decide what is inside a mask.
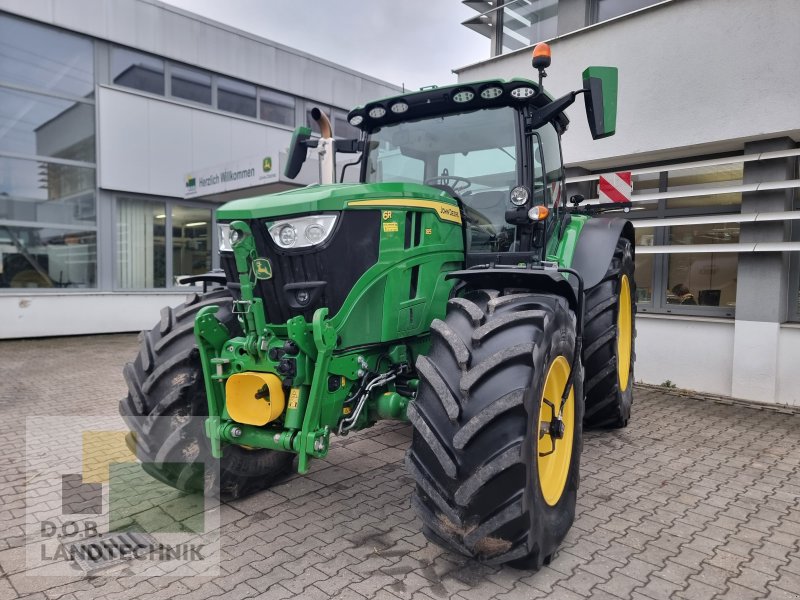
[[[481,290],[451,300],[431,331],[408,409],[406,464],[423,531],[483,562],[539,568],[575,517],[580,361],[563,437],[550,426],[573,362],[575,315],[563,298]]]

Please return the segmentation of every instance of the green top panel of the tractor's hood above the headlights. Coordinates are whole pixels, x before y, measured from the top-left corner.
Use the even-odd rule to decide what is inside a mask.
[[[233,200],[217,210],[220,221],[276,218],[303,213],[344,210],[353,200],[416,198],[457,206],[446,192],[419,183],[339,183]]]

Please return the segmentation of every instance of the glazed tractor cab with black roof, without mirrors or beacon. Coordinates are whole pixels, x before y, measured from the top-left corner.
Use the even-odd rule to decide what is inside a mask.
[[[536,231],[544,222],[528,213],[533,206],[544,207],[536,211],[543,215],[561,210],[564,185],[560,132],[566,118],[526,130],[525,94],[535,90],[530,81],[490,81],[354,110],[351,123],[365,131],[361,181],[420,183],[453,197],[462,212],[468,266],[529,261],[543,241]],[[383,110],[397,116],[384,124],[376,118]]]

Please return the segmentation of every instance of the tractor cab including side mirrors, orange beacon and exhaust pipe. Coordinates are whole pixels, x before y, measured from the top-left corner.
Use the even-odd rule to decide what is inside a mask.
[[[554,99],[542,86],[549,64],[549,48],[540,44],[533,58],[538,83],[432,86],[357,107],[348,121],[362,131],[358,140],[326,139],[327,118],[316,111],[323,138],[298,128],[286,175],[294,178],[307,149],[316,147],[321,183],[336,183],[336,153],[360,153],[361,183],[423,184],[457,201],[468,268],[538,264],[555,252],[548,240],[567,213],[564,111],[584,94],[592,137],[613,135],[616,127],[616,69],[589,67],[582,89]]]

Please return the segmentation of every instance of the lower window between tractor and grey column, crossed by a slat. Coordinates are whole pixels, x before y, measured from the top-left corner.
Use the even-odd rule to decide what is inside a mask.
[[[670,227],[670,245],[735,244],[738,223]],[[665,301],[692,306],[736,306],[739,255],[735,252],[670,254]]]

